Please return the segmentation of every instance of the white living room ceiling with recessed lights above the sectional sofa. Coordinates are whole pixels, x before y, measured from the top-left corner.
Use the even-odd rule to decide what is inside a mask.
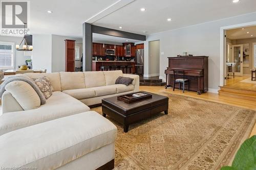
[[[31,33],[82,37],[82,23],[152,34],[256,11],[255,0],[33,0]],[[145,8],[144,12],[140,8]],[[47,10],[53,13],[47,13]],[[172,21],[166,19],[170,17]],[[146,32],[146,33],[144,33]]]

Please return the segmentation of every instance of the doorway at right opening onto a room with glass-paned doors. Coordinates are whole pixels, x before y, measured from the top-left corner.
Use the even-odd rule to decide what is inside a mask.
[[[256,91],[256,80],[251,80],[256,66],[255,42],[256,26],[225,30],[224,87]]]

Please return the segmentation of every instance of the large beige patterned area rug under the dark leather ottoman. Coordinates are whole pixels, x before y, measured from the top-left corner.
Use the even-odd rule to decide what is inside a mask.
[[[159,93],[169,97],[169,114],[120,124],[115,169],[220,169],[228,165],[251,132],[255,111]],[[101,112],[101,107],[92,110]]]

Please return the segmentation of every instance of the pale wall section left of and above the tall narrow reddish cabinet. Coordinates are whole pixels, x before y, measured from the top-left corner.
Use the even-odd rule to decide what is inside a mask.
[[[65,39],[82,42],[82,38],[52,35],[52,72],[65,71]]]

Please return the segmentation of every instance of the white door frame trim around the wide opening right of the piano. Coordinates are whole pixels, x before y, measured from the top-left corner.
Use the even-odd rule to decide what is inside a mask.
[[[236,28],[243,28],[249,26],[256,26],[256,21],[253,22],[245,22],[240,23],[238,25],[232,26],[225,26],[220,28],[220,86],[225,85],[225,75],[226,75],[226,43],[225,43],[225,31],[236,29]]]

